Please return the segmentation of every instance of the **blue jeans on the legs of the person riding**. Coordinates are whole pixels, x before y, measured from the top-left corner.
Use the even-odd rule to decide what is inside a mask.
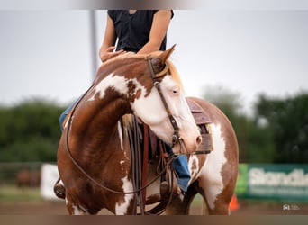
[[[78,100],[77,100],[78,101]],[[71,109],[74,107],[75,103],[71,103],[68,108],[62,112],[62,114],[59,117],[59,125],[61,131],[63,130],[62,123],[65,120],[65,118],[68,115],[68,112],[71,111]],[[166,145],[168,153],[172,152],[172,148],[170,148],[168,145]],[[188,182],[190,180],[190,174],[188,170],[188,163],[187,163],[187,157],[186,155],[180,155],[177,156],[177,158],[173,161],[173,166],[176,169],[177,172],[177,185],[179,188],[181,188],[182,191],[186,192],[188,188]]]

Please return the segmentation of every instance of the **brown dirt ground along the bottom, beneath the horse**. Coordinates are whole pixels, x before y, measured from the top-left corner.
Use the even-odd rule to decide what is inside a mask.
[[[247,202],[239,200],[239,209],[231,211],[231,215],[308,215],[308,203],[288,203],[284,210],[283,203]],[[286,208],[287,209],[287,208]],[[191,208],[191,214],[200,215],[200,206]],[[57,202],[0,202],[0,215],[67,215],[64,201]],[[101,211],[101,215],[111,214]]]

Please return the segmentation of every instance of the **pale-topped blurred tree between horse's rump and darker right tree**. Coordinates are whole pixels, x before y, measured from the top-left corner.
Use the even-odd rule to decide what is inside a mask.
[[[271,163],[275,145],[271,130],[242,110],[240,94],[222,86],[206,86],[204,100],[219,107],[231,121],[238,138],[241,163]]]

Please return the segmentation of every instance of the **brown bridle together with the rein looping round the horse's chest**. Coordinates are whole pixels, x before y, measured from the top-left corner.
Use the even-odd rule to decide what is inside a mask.
[[[153,80],[153,84],[154,86],[157,88],[158,92],[159,92],[159,96],[160,96],[160,99],[162,101],[162,103],[164,104],[164,107],[168,113],[168,118],[170,120],[170,123],[174,129],[174,133],[172,135],[172,147],[177,143],[179,142],[180,143],[180,146],[181,143],[182,143],[182,139],[179,137],[179,128],[177,126],[177,121],[175,120],[175,118],[173,117],[173,115],[171,114],[170,110],[169,110],[169,107],[168,107],[168,103],[166,102],[166,99],[164,97],[164,95],[162,94],[161,92],[161,89],[160,89],[160,84],[159,84],[159,81],[158,81],[158,78],[160,76],[164,76],[166,75],[166,73],[159,73],[160,76],[156,75],[154,73],[154,69],[153,69],[153,65],[152,65],[152,58],[146,58],[147,61],[148,61],[148,65],[149,65],[149,71],[150,71],[150,75],[151,75],[151,78]],[[165,66],[167,67],[167,66]],[[167,69],[163,69],[163,72],[165,72]],[[75,166],[77,166],[77,168],[82,172],[82,174],[86,175],[86,177],[91,181],[93,182],[94,184],[96,184],[97,186],[103,188],[104,190],[108,191],[108,192],[111,192],[111,193],[120,193],[120,194],[133,194],[133,193],[140,193],[141,191],[143,191],[144,189],[146,189],[147,187],[149,187],[149,185],[153,184],[157,179],[159,179],[159,177],[163,174],[166,173],[167,169],[171,166],[171,164],[173,163],[173,161],[177,158],[175,154],[171,153],[169,155],[169,160],[168,160],[168,163],[167,165],[162,169],[162,171],[159,173],[159,175],[157,175],[156,177],[154,177],[148,184],[144,185],[143,187],[141,187],[140,189],[138,190],[135,190],[135,191],[132,191],[132,192],[121,192],[121,191],[116,191],[116,190],[113,190],[107,186],[105,186],[104,184],[100,184],[99,182],[97,182],[92,176],[88,175],[86,173],[86,171],[83,169],[82,166],[80,166],[76,159],[72,156],[71,154],[71,151],[69,150],[69,146],[68,146],[68,135],[69,135],[69,130],[70,130],[70,127],[71,127],[71,121],[72,121],[72,117],[73,117],[73,114],[77,108],[77,105],[81,102],[81,100],[85,97],[85,95],[92,89],[93,85],[91,85],[89,87],[89,89],[87,89],[86,93],[83,94],[77,101],[77,103],[74,105],[70,115],[69,115],[69,118],[68,118],[68,123],[67,123],[67,132],[66,132],[66,139],[65,139],[65,143],[66,143],[66,150],[67,150],[67,153],[68,153],[68,157],[70,158],[70,160],[74,163]]]

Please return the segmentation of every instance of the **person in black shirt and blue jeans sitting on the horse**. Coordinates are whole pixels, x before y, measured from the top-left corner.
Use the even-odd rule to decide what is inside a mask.
[[[99,50],[102,62],[126,51],[148,54],[157,50],[165,50],[168,25],[173,15],[172,10],[108,10],[104,41]],[[62,123],[73,105],[60,116],[61,130]],[[172,151],[170,147],[168,150]],[[190,180],[186,155],[177,157],[173,165],[177,171],[177,184],[185,193]],[[168,192],[169,188],[166,185],[168,185],[166,182],[160,185],[160,192]],[[63,191],[61,184],[55,184],[55,193]]]

